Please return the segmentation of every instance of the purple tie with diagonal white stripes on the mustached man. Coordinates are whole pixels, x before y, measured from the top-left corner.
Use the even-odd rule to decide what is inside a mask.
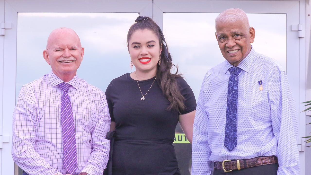
[[[68,173],[73,174],[78,168],[78,162],[75,123],[73,121],[72,107],[68,95],[70,85],[63,82],[58,84],[58,86],[64,91],[60,107],[64,146],[63,163]]]

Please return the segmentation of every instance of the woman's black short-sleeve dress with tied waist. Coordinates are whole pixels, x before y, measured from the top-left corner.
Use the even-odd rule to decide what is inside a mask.
[[[155,77],[138,81],[142,93],[150,88]],[[177,78],[185,97],[186,109],[196,109],[193,91]],[[162,94],[157,81],[141,100],[137,81],[124,74],[109,84],[106,90],[111,121],[116,123],[112,155],[113,175],[175,175],[180,174],[172,145],[179,113],[168,111],[169,101]]]

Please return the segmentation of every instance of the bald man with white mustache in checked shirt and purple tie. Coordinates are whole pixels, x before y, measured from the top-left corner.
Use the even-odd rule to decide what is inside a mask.
[[[45,61],[52,71],[21,88],[12,122],[12,157],[23,175],[101,175],[109,159],[106,97],[77,77],[84,55],[69,28],[49,35]]]

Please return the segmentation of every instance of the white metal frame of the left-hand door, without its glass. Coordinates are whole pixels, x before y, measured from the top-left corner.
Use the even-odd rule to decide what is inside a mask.
[[[1,121],[5,123],[0,133],[2,131],[3,135],[10,137],[12,136],[12,113],[16,103],[16,25],[18,12],[137,12],[142,16],[152,16],[152,0],[0,0],[0,22],[4,20],[12,23],[12,29],[6,30],[4,37],[0,36],[0,82],[3,82],[3,90],[2,86],[0,87],[0,94],[3,94],[3,97],[0,95],[0,104],[2,101],[5,102],[0,105],[0,109],[3,109],[0,124]],[[3,40],[4,45],[2,44]],[[2,58],[3,48],[4,55]],[[1,168],[0,175],[14,174],[11,143],[3,144],[3,150],[5,151],[2,152],[1,160],[6,162],[6,167]]]

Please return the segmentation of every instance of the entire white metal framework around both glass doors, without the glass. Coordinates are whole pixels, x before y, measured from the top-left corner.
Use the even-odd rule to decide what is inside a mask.
[[[6,30],[6,35],[0,35],[0,136],[11,136],[12,112],[15,106],[16,94],[16,24],[18,12],[139,12],[141,16],[152,16],[163,28],[163,12],[222,12],[226,8],[239,7],[246,13],[286,13],[292,14],[298,6],[299,13],[288,15],[287,24],[299,21],[303,24],[304,38],[299,38],[299,44],[294,44],[287,37],[287,74],[292,86],[292,91],[299,116],[299,138],[306,133],[306,114],[299,113],[305,109],[299,102],[306,101],[306,56],[309,50],[310,21],[307,12],[311,8],[306,4],[310,0],[0,0],[0,22],[12,23],[12,29]],[[219,4],[222,4],[219,6]],[[250,8],[256,7],[256,8]],[[280,8],[282,7],[282,8]],[[306,22],[307,21],[307,22]],[[306,33],[306,28],[307,33]],[[287,26],[287,33],[291,31]],[[306,39],[308,42],[306,43]],[[299,58],[297,58],[297,55]],[[4,123],[2,125],[2,122]],[[304,142],[300,143],[304,148]],[[5,150],[2,152],[2,150]],[[13,174],[14,163],[11,158],[11,143],[3,143],[0,149],[0,163],[5,166],[0,168],[1,174]],[[308,158],[305,152],[300,152],[301,175],[305,175],[308,167]],[[3,164],[2,164],[3,165]],[[311,164],[310,164],[311,165]],[[5,168],[4,168],[5,167]],[[311,166],[310,166],[311,167]]]

